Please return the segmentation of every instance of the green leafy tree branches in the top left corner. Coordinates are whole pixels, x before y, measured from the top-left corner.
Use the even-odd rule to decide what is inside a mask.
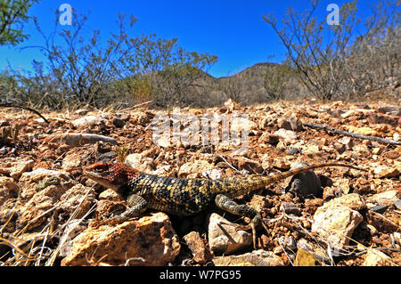
[[[28,38],[22,32],[30,6],[38,0],[0,0],[0,45],[18,45]]]

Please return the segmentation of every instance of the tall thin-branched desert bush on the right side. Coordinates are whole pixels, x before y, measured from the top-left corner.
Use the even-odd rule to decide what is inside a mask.
[[[314,15],[317,0],[310,1],[311,9],[305,12],[296,12],[290,7],[282,19],[282,27],[273,14],[263,18],[280,37],[291,66],[311,94],[328,100],[334,96],[350,98],[363,94],[367,84],[379,86],[385,77],[399,76],[396,2],[375,6],[372,17],[364,20],[364,33],[360,35],[356,34],[362,22],[356,14],[356,1],[341,6],[339,25],[317,20]],[[396,37],[395,44],[389,45]],[[375,64],[370,65],[372,61]],[[383,61],[387,63],[381,65]],[[384,65],[389,68],[384,70]],[[361,74],[365,68],[367,74]]]

